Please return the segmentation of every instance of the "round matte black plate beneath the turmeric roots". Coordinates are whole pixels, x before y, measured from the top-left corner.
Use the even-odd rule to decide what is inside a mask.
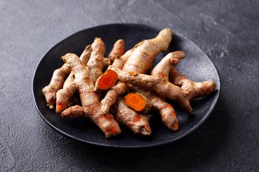
[[[95,37],[101,37],[107,45],[107,52],[113,46],[113,43],[119,38],[123,38],[126,44],[126,50],[132,48],[136,43],[146,38],[153,38],[157,35],[159,29],[141,24],[108,24],[88,28],[65,38],[55,45],[43,56],[33,77],[33,95],[41,117],[54,129],[70,138],[83,141],[90,144],[111,146],[111,147],[146,147],[168,144],[172,141],[181,139],[197,129],[211,114],[218,100],[220,90],[220,79],[218,72],[208,55],[201,48],[189,39],[174,33],[169,51],[184,50],[187,57],[181,60],[177,68],[188,75],[192,80],[201,81],[212,79],[216,82],[216,91],[208,97],[195,100],[191,103],[194,108],[194,116],[189,117],[185,112],[179,109],[178,105],[173,103],[177,116],[179,118],[179,131],[176,133],[166,129],[162,124],[159,114],[153,114],[151,119],[152,136],[147,139],[141,136],[135,136],[129,129],[122,127],[121,136],[115,139],[105,139],[102,131],[87,119],[62,119],[54,110],[46,107],[46,102],[41,89],[48,85],[53,71],[63,65],[60,57],[65,53],[80,53],[93,42]],[[154,60],[154,65],[164,56],[160,53]]]

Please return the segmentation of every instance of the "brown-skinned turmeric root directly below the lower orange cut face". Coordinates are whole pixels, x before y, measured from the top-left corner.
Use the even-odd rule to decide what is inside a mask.
[[[112,112],[115,114],[117,121],[125,124],[134,134],[150,136],[152,130],[149,126],[149,115],[134,112],[134,110],[127,107],[123,97],[117,99],[114,107],[112,107]]]

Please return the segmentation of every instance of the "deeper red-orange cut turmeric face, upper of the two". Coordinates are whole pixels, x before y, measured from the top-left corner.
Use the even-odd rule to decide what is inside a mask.
[[[115,86],[118,79],[117,72],[113,70],[106,70],[97,80],[97,87],[100,90],[108,90],[110,87]]]

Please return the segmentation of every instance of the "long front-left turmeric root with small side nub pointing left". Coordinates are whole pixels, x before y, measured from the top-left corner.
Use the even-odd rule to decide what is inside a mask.
[[[97,124],[106,137],[120,134],[120,127],[112,114],[100,113],[100,96],[94,92],[93,82],[88,77],[88,69],[77,55],[66,54],[63,60],[70,66],[75,75],[75,88],[78,90],[82,107],[68,107],[62,112],[62,117],[82,117],[82,114]]]

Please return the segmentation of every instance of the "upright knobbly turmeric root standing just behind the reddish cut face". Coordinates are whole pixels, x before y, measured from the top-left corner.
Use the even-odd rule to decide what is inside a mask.
[[[102,75],[102,70],[105,66],[110,65],[111,62],[109,59],[105,60],[104,58],[106,46],[101,38],[95,38],[92,48],[93,50],[87,65],[90,68],[90,80],[95,83],[97,78]]]

